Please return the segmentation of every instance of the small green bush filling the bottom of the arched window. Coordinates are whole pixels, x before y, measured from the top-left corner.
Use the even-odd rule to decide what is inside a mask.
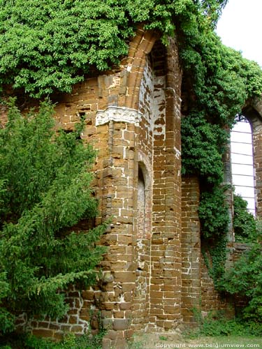
[[[251,242],[256,239],[256,219],[247,210],[247,201],[240,195],[234,195],[233,227],[235,241]]]

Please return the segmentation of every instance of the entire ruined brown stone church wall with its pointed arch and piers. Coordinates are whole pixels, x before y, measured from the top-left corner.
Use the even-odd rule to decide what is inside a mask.
[[[101,312],[105,348],[122,348],[133,331],[173,331],[193,322],[192,307],[224,309],[201,256],[199,187],[181,178],[182,71],[175,40],[164,47],[138,30],[119,68],[76,84],[57,100],[57,128],[85,119],[82,139],[97,149],[96,224],[112,218],[103,277],[89,290],[68,290],[61,319],[20,317],[37,335],[96,331]],[[254,124],[258,207],[261,206],[261,124]]]

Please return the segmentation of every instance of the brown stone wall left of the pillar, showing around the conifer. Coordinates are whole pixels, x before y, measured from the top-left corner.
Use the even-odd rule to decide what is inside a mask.
[[[71,131],[75,123],[85,118],[85,128],[81,135],[82,139],[89,142],[98,150],[96,164],[94,165],[94,188],[99,200],[99,211],[101,215],[96,218],[100,223],[106,216],[108,201],[108,188],[110,183],[105,173],[108,170],[106,159],[109,158],[108,138],[109,126],[96,126],[96,113],[99,110],[99,82],[97,78],[87,79],[85,82],[75,85],[72,94],[61,96],[55,107],[56,127]],[[106,261],[103,269],[108,271]],[[109,289],[109,288],[108,288]],[[61,338],[65,332],[84,334],[89,330],[89,323],[93,329],[98,327],[96,317],[92,319],[92,311],[96,313],[101,302],[104,303],[103,311],[106,311],[107,302],[110,296],[103,296],[101,288],[96,285],[89,290],[76,289],[72,286],[66,293],[66,302],[70,306],[68,313],[62,319],[27,319],[21,316],[18,319],[20,327],[26,326],[33,334],[38,336]],[[91,328],[92,328],[91,327]]]

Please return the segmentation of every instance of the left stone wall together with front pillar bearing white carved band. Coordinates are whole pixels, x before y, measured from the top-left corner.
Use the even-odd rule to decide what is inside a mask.
[[[117,343],[121,348],[133,333],[131,327],[136,304],[145,304],[142,311],[143,314],[148,313],[148,243],[145,244],[146,250],[140,253],[140,265],[145,265],[145,275],[140,284],[143,292],[136,297],[136,286],[140,283],[137,270],[142,269],[138,267],[138,164],[143,164],[141,170],[144,173],[147,195],[145,228],[150,234],[152,180],[148,180],[146,174],[152,177],[152,133],[150,135],[148,126],[151,113],[147,110],[141,120],[138,97],[146,54],[150,52],[155,39],[151,32],[139,29],[138,35],[130,44],[129,56],[122,61],[120,68],[75,85],[72,94],[60,96],[57,101],[57,128],[69,132],[74,128],[75,122],[85,119],[81,137],[97,149],[93,184],[99,199],[100,214],[96,218],[96,224],[110,217],[112,221],[101,241],[108,246],[108,253],[101,262],[101,281],[89,290],[83,290],[81,294],[75,289],[68,291],[71,309],[61,320],[20,318],[21,327],[25,325],[24,320],[27,320],[27,327],[34,334],[56,338],[60,338],[67,330],[83,334],[87,332],[89,324],[95,331],[98,328],[98,311],[101,311],[103,324],[108,328],[104,339],[105,347]],[[146,137],[144,131],[148,133]],[[150,239],[145,241],[150,242]],[[145,316],[140,328],[145,328],[147,320]],[[133,327],[136,327],[134,325],[135,323]]]

